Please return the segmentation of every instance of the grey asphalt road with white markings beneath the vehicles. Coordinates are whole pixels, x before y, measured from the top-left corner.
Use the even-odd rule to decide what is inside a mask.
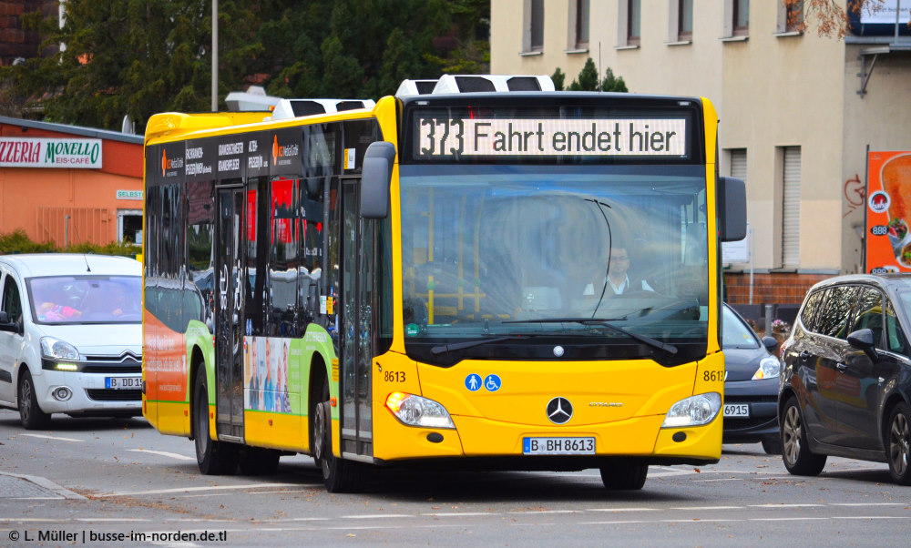
[[[330,494],[309,457],[268,476],[203,476],[191,441],[141,419],[24,431],[0,410],[0,546],[893,546],[908,532],[911,488],[885,464],[830,459],[796,477],[759,444],[725,445],[711,466],[651,467],[640,492],[606,491],[597,470],[383,470],[366,492]]]

